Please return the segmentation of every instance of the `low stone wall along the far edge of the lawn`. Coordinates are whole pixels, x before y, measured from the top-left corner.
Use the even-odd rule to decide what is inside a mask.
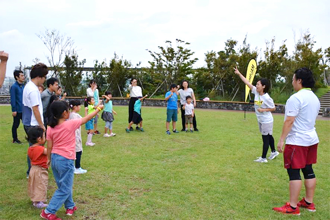
[[[70,99],[79,99],[81,103],[84,102],[83,97],[67,97]],[[114,105],[128,105],[129,98],[112,98],[112,102]],[[0,104],[9,104],[10,96],[0,96]],[[180,102],[179,102],[180,104]],[[166,107],[166,101],[164,99],[145,99],[142,102],[144,106],[159,106]],[[196,101],[197,108],[208,108],[208,109],[227,109],[227,110],[240,110],[244,111],[244,102],[233,102],[233,101]],[[284,113],[283,104],[276,104],[275,113]],[[245,109],[247,112],[254,112],[253,103],[246,103]]]

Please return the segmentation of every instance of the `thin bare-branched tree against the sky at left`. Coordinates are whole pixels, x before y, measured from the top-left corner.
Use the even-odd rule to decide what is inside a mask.
[[[65,56],[71,56],[74,53],[74,41],[56,29],[46,28],[45,32],[36,33],[36,35],[50,52],[50,56],[46,57],[49,65],[53,67],[53,77],[58,78],[58,71],[64,64]]]

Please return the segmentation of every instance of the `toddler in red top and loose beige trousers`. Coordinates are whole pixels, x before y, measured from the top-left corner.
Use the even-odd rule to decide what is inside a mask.
[[[39,126],[32,127],[27,133],[27,139],[33,144],[27,151],[32,165],[28,177],[27,194],[36,208],[45,208],[48,186],[47,149],[42,145],[46,142],[45,132]]]

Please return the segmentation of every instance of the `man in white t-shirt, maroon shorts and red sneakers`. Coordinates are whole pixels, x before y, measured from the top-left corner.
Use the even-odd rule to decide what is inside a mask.
[[[278,151],[283,153],[284,167],[289,175],[290,201],[273,210],[285,214],[300,215],[300,208],[315,211],[313,203],[316,178],[312,164],[316,163],[318,137],[315,121],[320,109],[320,102],[311,91],[314,87],[312,71],[308,68],[295,70],[292,86],[295,94],[285,105],[285,119],[282,134],[277,144]],[[300,169],[305,177],[306,197],[301,201],[299,194],[302,188]]]

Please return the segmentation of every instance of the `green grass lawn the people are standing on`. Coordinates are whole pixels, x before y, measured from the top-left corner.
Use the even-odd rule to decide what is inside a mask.
[[[127,106],[114,106],[115,137],[94,135],[95,146],[84,146],[82,168],[75,175],[78,211],[63,219],[298,219],[275,213],[288,201],[288,176],[283,155],[267,164],[254,113],[196,109],[200,132],[165,134],[166,108],[142,107],[145,132],[125,132]],[[283,115],[274,115],[275,143]],[[27,196],[27,141],[20,125],[12,144],[11,108],[0,106],[0,219],[41,219]],[[179,119],[181,123],[181,119]],[[99,130],[104,122],[100,120]],[[83,142],[85,127],[82,126]],[[181,129],[180,129],[181,130]],[[318,163],[315,213],[299,219],[330,219],[330,121],[318,120]],[[268,153],[268,156],[270,151]],[[302,175],[303,176],[303,175]],[[48,200],[56,189],[49,170]],[[304,196],[302,189],[301,197]]]

